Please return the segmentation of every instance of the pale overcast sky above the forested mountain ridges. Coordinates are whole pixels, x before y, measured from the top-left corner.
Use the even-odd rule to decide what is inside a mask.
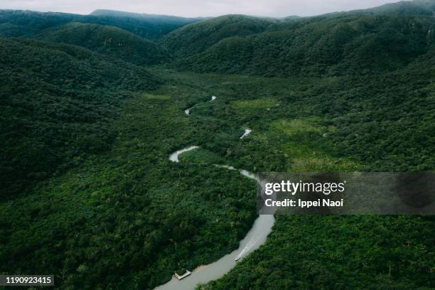
[[[0,9],[28,9],[90,14],[113,9],[178,16],[313,16],[379,6],[399,0],[0,0]]]

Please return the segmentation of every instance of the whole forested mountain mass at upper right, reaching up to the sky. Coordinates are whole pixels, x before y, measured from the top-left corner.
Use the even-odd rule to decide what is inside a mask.
[[[263,26],[244,18],[251,28],[245,30],[223,21],[230,16],[222,16],[219,24],[218,18],[193,23],[169,33],[162,42],[180,56],[179,69],[198,73],[382,73],[404,68],[434,49],[435,18],[418,9],[402,15],[408,11],[403,7],[431,11],[434,3],[400,2],[365,11],[269,21]],[[195,36],[200,36],[198,41]]]

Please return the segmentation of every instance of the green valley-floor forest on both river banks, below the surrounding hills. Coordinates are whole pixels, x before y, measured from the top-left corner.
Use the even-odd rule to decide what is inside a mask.
[[[213,262],[255,217],[254,183],[214,162],[250,171],[434,168],[433,136],[424,133],[434,124],[431,67],[382,78],[152,73],[168,85],[129,93],[110,149],[0,204],[0,272],[53,272],[65,289],[140,289]],[[418,139],[407,139],[412,131],[397,116]],[[241,126],[252,129],[242,140]],[[168,161],[190,145],[198,155]],[[206,287],[333,289],[344,276],[356,289],[430,289],[432,222],[280,217],[265,247]]]

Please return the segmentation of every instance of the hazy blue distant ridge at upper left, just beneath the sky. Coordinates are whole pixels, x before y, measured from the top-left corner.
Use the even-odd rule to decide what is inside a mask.
[[[69,22],[83,22],[117,26],[143,38],[155,40],[187,23],[199,20],[200,18],[159,15],[137,17],[131,16],[131,14],[108,14],[104,11],[96,11],[93,15],[79,15],[27,10],[0,10],[0,36],[28,37],[46,28]]]

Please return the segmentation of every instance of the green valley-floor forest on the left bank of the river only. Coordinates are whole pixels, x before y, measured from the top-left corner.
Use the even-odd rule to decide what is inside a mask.
[[[151,289],[238,246],[256,216],[254,181],[168,160],[197,136],[181,104],[200,94],[131,94],[109,150],[1,200],[1,273],[55,273],[61,289]]]

